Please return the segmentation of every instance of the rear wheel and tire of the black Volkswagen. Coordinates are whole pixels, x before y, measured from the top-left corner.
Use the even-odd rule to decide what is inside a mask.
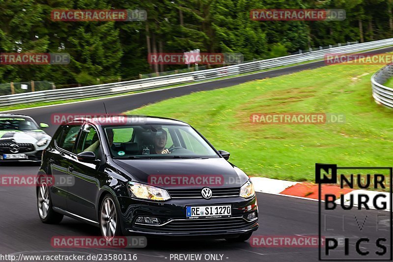
[[[46,187],[47,191],[41,192],[41,190],[44,190],[41,189],[41,187]],[[44,195],[45,199],[43,199],[42,194]],[[49,187],[46,183],[42,183],[42,185],[38,187],[37,207],[38,207],[38,216],[40,217],[41,222],[44,224],[58,224],[61,222],[61,220],[64,217],[62,214],[59,214],[53,210],[51,194],[49,194]],[[46,213],[44,212],[44,209],[47,209]]]

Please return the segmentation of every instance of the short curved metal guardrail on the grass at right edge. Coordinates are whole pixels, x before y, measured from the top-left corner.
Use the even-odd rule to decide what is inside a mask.
[[[393,64],[388,64],[371,77],[372,96],[377,104],[393,108],[393,88],[383,84],[393,76]]]

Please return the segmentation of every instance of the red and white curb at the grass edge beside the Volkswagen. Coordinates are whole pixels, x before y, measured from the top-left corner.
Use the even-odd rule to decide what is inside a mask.
[[[281,195],[293,198],[308,199],[318,201],[318,184],[309,182],[293,182],[279,179],[272,179],[266,177],[251,177],[253,181],[255,192]],[[367,205],[371,209],[373,208],[373,199],[377,194],[385,195],[385,198],[378,198],[376,205],[382,206],[382,201],[386,202],[387,209],[389,211],[390,206],[390,194],[387,192],[371,191],[371,190],[359,190],[351,188],[340,188],[338,185],[324,184],[321,190],[321,199],[325,199],[325,194],[334,194],[336,196],[336,203],[340,204],[341,196],[343,203],[347,204],[352,196],[354,206],[358,206],[358,195],[363,194],[368,196]]]

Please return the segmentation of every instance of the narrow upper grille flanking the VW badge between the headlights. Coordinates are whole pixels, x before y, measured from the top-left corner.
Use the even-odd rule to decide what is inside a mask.
[[[211,190],[212,198],[238,197],[240,188],[211,188]],[[167,191],[173,199],[202,198],[202,189],[168,189]]]

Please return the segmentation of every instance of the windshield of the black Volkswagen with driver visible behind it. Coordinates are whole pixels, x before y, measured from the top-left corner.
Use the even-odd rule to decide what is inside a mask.
[[[190,126],[124,125],[105,127],[113,158],[217,158],[216,151]]]

